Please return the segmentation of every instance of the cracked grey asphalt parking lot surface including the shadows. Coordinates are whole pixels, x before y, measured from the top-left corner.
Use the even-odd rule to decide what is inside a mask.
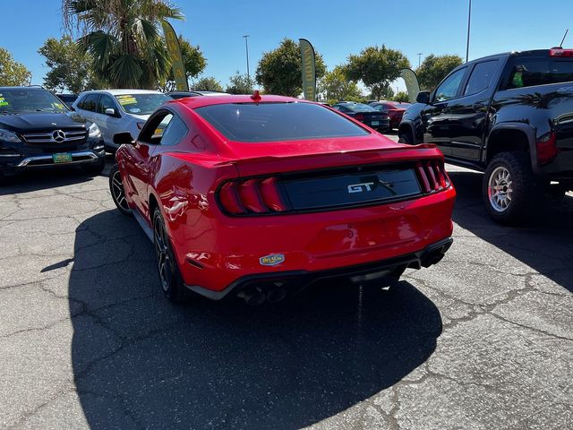
[[[449,171],[438,265],[254,309],[168,303],[105,174],[0,188],[0,428],[572,428],[573,197],[500,227]]]

